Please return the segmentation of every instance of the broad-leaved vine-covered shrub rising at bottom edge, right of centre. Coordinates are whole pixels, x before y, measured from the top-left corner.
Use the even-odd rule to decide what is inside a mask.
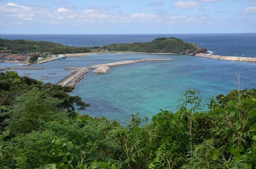
[[[157,129],[158,149],[149,164],[154,168],[176,168],[182,164],[182,158],[187,151],[188,141],[183,123],[169,111],[163,111],[152,117],[152,127]]]

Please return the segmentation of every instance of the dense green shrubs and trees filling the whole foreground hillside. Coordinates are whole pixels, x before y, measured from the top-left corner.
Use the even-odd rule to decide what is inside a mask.
[[[206,112],[200,92],[187,90],[175,114],[134,114],[126,126],[77,114],[89,105],[71,91],[0,73],[0,168],[256,167],[256,89],[219,95]]]

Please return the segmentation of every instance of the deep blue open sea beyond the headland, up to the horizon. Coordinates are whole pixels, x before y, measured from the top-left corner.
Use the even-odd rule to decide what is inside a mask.
[[[0,34],[1,39],[56,42],[67,46],[103,46],[128,42],[150,42],[159,37],[176,37],[213,51],[216,55],[256,57],[256,33],[132,34],[132,35],[30,35]]]

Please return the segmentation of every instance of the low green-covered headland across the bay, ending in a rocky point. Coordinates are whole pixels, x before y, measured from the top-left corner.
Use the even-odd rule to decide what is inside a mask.
[[[208,53],[206,49],[199,48],[194,43],[184,42],[177,38],[157,38],[152,42],[135,42],[125,44],[111,44],[95,47],[70,47],[58,43],[31,40],[4,40],[0,39],[0,51],[6,53],[45,52],[60,53],[84,53],[90,51],[102,52],[145,52],[145,53],[180,53],[195,54]]]

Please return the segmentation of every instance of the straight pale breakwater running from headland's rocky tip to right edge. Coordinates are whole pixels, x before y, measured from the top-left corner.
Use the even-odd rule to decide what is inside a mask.
[[[256,58],[253,58],[253,57],[221,56],[221,55],[210,55],[210,54],[204,54],[204,53],[198,53],[195,56],[207,57],[211,59],[228,60],[228,61],[256,62]]]

